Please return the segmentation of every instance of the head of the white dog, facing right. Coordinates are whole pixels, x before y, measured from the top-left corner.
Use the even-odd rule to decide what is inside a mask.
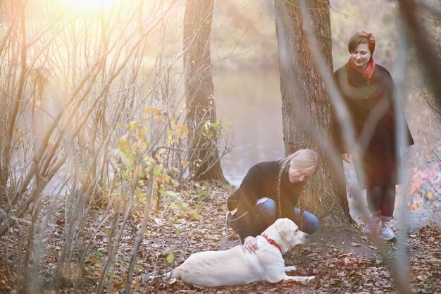
[[[295,245],[306,242],[307,233],[299,231],[299,227],[290,219],[278,219],[269,226],[263,233],[268,238],[273,239],[282,249],[282,253],[287,252]]]

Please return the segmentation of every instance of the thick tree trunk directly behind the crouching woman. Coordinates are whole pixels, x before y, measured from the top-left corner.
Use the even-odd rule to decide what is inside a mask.
[[[332,41],[329,1],[305,1],[313,31],[329,71],[332,71]],[[318,151],[318,172],[306,185],[304,209],[315,213],[322,223],[344,225],[352,221],[342,179],[342,161],[337,170],[323,159],[318,136],[332,138],[330,99],[313,60],[311,44],[303,23],[299,1],[275,0],[278,37],[280,91],[285,153],[311,148]]]

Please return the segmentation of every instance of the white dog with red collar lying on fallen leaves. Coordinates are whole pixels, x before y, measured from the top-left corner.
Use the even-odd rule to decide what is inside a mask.
[[[305,243],[306,236],[290,219],[278,219],[256,237],[258,250],[255,254],[244,252],[242,245],[226,251],[198,252],[167,276],[199,286],[232,286],[258,281],[311,281],[314,276],[287,276],[285,271],[294,271],[295,267],[285,267],[282,258],[282,254],[295,245]]]

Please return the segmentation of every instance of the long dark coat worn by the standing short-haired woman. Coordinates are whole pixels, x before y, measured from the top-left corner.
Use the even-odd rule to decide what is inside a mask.
[[[401,161],[396,148],[397,116],[392,76],[383,66],[375,65],[370,85],[367,85],[361,73],[348,62],[335,71],[334,78],[352,117],[356,147],[362,150],[361,162],[354,161],[360,188],[399,184],[397,171]],[[344,145],[340,125],[336,119],[334,122],[340,152],[351,153],[353,147]],[[407,145],[413,145],[407,123],[405,129]],[[365,178],[361,176],[363,173]]]

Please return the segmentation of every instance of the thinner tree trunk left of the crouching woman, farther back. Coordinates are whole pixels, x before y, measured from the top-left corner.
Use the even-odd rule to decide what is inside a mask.
[[[210,31],[213,0],[187,0],[184,16],[184,68],[191,175],[203,180],[222,180],[218,152],[214,87],[211,77]]]

